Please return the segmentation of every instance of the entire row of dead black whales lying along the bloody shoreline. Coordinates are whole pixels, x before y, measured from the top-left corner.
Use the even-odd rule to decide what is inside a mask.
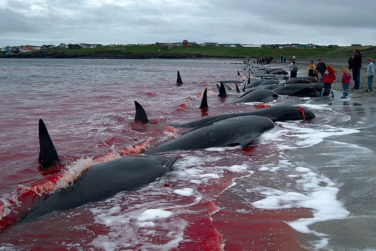
[[[302,79],[301,81],[312,81],[312,83],[296,83],[297,80],[293,79],[288,85],[280,85],[271,83],[270,81],[263,81],[271,79],[260,79],[261,81],[256,80],[258,81],[256,84],[256,81],[252,81],[248,77],[245,86],[252,85],[252,88],[248,92],[245,92],[238,99],[238,102],[255,102],[254,100],[269,102],[276,98],[278,94],[285,95],[282,94],[284,93],[282,91],[283,88],[288,89],[290,86],[300,86],[303,84],[309,86],[316,85],[310,78],[300,79]],[[224,82],[226,81],[222,81],[218,88],[218,95],[222,95],[221,91],[223,92],[224,89],[226,93],[226,88],[229,87]],[[228,83],[230,82],[232,81],[228,81]],[[235,83],[238,87],[238,82]],[[182,84],[179,72],[177,74],[177,84]],[[272,85],[278,85],[278,87],[273,89],[278,92],[266,88]],[[245,89],[248,88],[244,87],[243,91]],[[284,91],[287,92],[287,89],[284,89]],[[295,92],[291,91],[291,93],[299,93],[299,95],[314,93],[311,90],[313,87],[296,87],[291,89],[295,90]],[[239,91],[239,88],[237,88],[237,91]],[[208,107],[206,92],[207,89],[205,89],[203,95],[201,108]],[[226,93],[226,95],[228,94]],[[258,98],[260,96],[262,98]],[[149,123],[142,105],[137,101],[134,101],[134,104],[134,120],[138,123]],[[274,128],[274,122],[276,121],[309,120],[314,117],[315,114],[307,108],[280,104],[249,112],[213,115],[191,122],[172,124],[171,126],[175,128],[191,128],[192,130],[144,152],[143,155],[124,157],[92,166],[83,172],[72,185],[46,196],[43,198],[43,201],[32,206],[30,213],[21,220],[31,221],[54,210],[75,208],[85,203],[103,200],[121,191],[131,191],[146,186],[168,172],[178,159],[178,156],[171,158],[156,154],[176,150],[197,150],[233,145],[247,146],[262,133]],[[49,170],[60,162],[60,158],[46,125],[41,118],[39,119],[39,143],[39,168],[41,170]]]

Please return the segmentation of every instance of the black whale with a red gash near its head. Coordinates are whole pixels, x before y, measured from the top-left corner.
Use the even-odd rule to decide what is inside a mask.
[[[198,120],[194,120],[182,124],[173,124],[173,127],[176,128],[198,128],[204,125],[213,123],[215,121],[220,121],[230,117],[238,116],[248,116],[248,115],[259,115],[268,117],[274,122],[276,121],[288,121],[288,120],[309,120],[315,117],[315,114],[304,107],[293,106],[287,104],[273,105],[265,107],[262,109],[248,111],[248,112],[237,112],[237,113],[227,113],[220,115],[213,115],[209,117],[204,117]]]

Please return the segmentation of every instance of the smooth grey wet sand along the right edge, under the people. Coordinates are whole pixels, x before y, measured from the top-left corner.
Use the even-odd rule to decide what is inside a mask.
[[[305,76],[311,59],[299,59],[298,76]],[[317,59],[314,60],[317,64]],[[366,63],[363,58],[360,89],[349,89],[347,98],[340,98],[341,66],[347,59],[325,59],[326,65],[337,70],[333,83],[334,98],[316,98],[315,104],[327,105],[336,112],[350,117],[348,121],[330,126],[357,129],[360,133],[332,137],[311,148],[302,148],[294,156],[304,156],[301,161],[316,166],[317,170],[338,184],[338,200],[351,213],[346,219],[316,223],[311,228],[328,234],[329,243],[324,249],[360,250],[376,248],[376,93],[367,89]],[[274,65],[288,70],[288,63]],[[373,84],[374,85],[374,84]],[[350,88],[353,86],[351,80]],[[331,141],[331,142],[330,142]],[[333,144],[340,142],[347,148]],[[349,146],[349,147],[348,147]],[[349,151],[350,149],[350,151]],[[309,238],[309,236],[307,236]]]

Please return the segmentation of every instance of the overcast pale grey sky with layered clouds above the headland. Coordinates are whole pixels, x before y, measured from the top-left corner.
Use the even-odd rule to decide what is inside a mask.
[[[0,0],[0,47],[155,42],[376,44],[372,0]]]

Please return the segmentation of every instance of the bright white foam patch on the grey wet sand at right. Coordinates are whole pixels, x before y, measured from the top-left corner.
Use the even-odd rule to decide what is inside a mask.
[[[307,106],[307,105],[306,105]],[[321,107],[325,108],[325,107]],[[312,147],[324,140],[336,144],[337,141],[327,140],[330,137],[338,137],[353,133],[358,130],[336,128],[328,125],[317,126],[315,124],[300,124],[295,122],[278,122],[280,127],[263,135],[264,140],[273,141],[280,150],[293,150]],[[360,148],[355,145],[338,142],[338,147]],[[369,151],[363,149],[364,151]],[[339,188],[329,178],[312,171],[314,167],[306,164],[295,163],[288,159],[289,152],[281,152],[281,160],[277,165],[266,164],[259,171],[269,171],[284,175],[294,184],[287,187],[257,187],[249,189],[249,192],[257,192],[265,198],[252,202],[252,206],[260,209],[286,209],[308,208],[312,210],[312,218],[300,218],[286,222],[290,227],[302,233],[310,233],[320,239],[311,243],[312,248],[323,248],[328,244],[329,238],[325,233],[320,233],[309,228],[310,225],[327,220],[344,219],[350,215],[343,203],[337,200]],[[287,180],[287,182],[289,182]],[[289,184],[289,183],[287,183]]]

